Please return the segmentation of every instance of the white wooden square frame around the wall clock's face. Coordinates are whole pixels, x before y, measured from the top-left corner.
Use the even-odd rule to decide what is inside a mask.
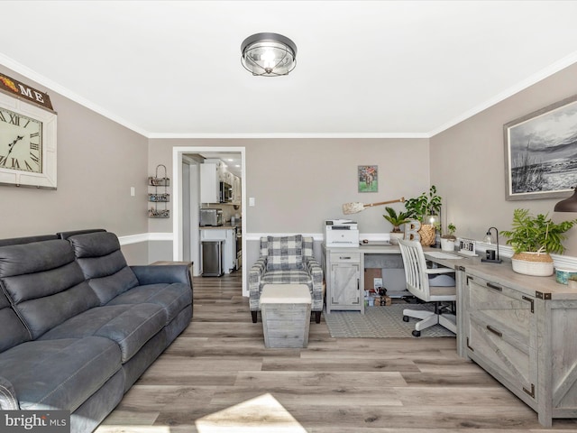
[[[0,106],[14,113],[31,117],[42,124],[41,171],[38,173],[0,167],[0,185],[56,189],[57,114],[47,108],[35,106],[19,97],[0,92]],[[0,127],[2,124],[0,122]]]

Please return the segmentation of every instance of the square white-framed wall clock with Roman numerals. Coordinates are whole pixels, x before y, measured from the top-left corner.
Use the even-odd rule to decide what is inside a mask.
[[[55,112],[0,93],[0,184],[56,189]]]

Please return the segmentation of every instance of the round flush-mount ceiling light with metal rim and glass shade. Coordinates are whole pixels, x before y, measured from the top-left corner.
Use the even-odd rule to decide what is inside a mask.
[[[241,45],[244,69],[261,77],[288,75],[297,65],[297,45],[277,33],[257,33]]]

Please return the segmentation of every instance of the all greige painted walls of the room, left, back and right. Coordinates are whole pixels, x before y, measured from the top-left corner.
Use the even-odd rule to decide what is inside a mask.
[[[58,124],[56,191],[0,187],[3,199],[0,237],[104,227],[117,235],[171,233],[172,218],[148,219],[146,178],[160,163],[172,176],[175,146],[246,148],[245,235],[260,233],[321,234],[327,218],[345,217],[349,201],[371,203],[415,197],[432,183],[444,198],[444,221],[457,234],[481,239],[489,226],[510,226],[512,211],[527,207],[554,214],[557,199],[506,201],[502,125],[577,93],[577,65],[545,78],[472,118],[427,139],[147,139],[84,106],[44,89],[0,66],[0,71],[47,90]],[[358,165],[380,169],[379,192],[357,191]],[[130,197],[130,187],[136,196]],[[394,207],[402,208],[401,205]],[[363,233],[388,232],[382,207],[353,216]],[[576,228],[569,233],[567,254],[577,255]],[[170,242],[133,244],[124,249],[141,263],[170,260]],[[248,254],[247,254],[248,255]],[[247,257],[248,258],[248,257]]]

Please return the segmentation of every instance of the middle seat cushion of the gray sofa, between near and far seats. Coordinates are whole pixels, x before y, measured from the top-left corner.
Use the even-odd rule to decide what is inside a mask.
[[[114,341],[128,361],[166,323],[165,310],[155,304],[111,305],[88,309],[50,329],[41,340],[104,336]]]

